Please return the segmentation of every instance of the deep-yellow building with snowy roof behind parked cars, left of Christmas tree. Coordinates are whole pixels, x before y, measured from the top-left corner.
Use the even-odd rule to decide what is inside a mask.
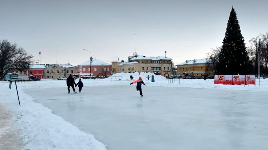
[[[177,64],[177,75],[194,75],[203,76],[210,75],[213,76],[213,71],[209,71],[206,67],[206,59],[194,59],[186,60],[183,63]]]

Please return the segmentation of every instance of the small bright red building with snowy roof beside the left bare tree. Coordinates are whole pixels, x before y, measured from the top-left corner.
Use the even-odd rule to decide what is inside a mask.
[[[28,75],[37,79],[45,79],[46,64],[31,64],[28,69]]]

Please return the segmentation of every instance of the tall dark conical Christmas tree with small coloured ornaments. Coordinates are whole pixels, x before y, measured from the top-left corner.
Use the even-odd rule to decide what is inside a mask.
[[[249,57],[236,17],[236,11],[232,8],[219,54],[219,61],[216,63],[216,74],[247,74],[249,64]]]

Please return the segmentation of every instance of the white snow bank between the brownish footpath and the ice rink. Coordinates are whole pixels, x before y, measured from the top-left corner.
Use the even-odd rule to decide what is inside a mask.
[[[93,135],[80,131],[63,118],[52,114],[42,104],[35,103],[33,98],[21,92],[21,88],[18,88],[21,99],[19,106],[15,85],[12,85],[11,90],[8,86],[8,82],[0,82],[1,97],[4,97],[0,103],[13,111],[13,119],[25,143],[23,149],[106,150]]]

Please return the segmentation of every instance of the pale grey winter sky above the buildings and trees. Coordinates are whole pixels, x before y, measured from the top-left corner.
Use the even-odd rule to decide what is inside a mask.
[[[41,63],[78,65],[92,57],[138,55],[202,59],[222,46],[232,6],[242,36],[268,31],[268,1],[0,0],[0,40],[23,47]]]

